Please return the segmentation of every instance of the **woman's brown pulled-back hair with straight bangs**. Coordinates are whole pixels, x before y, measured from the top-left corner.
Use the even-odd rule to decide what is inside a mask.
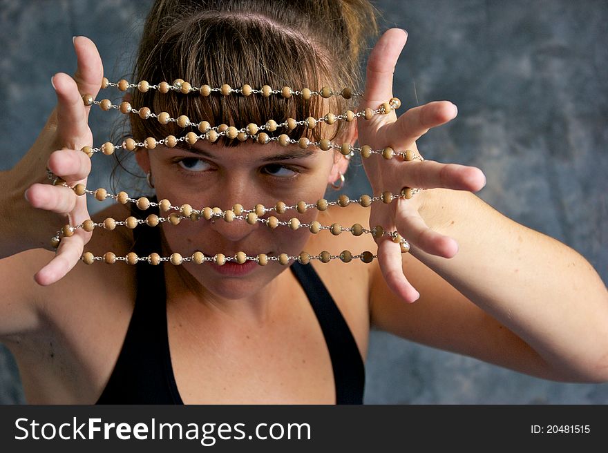
[[[346,87],[361,90],[362,50],[377,34],[376,15],[367,0],[157,0],[144,23],[133,80],[171,84],[180,78],[192,86],[260,88],[267,84],[274,89],[316,90],[327,85],[338,92]],[[211,126],[223,123],[243,128],[268,119],[281,123],[288,117],[319,118],[327,113],[321,113],[321,107],[328,107],[319,99],[134,90],[131,103],[133,108],[149,106],[155,113],[166,111],[173,117],[187,115],[193,122],[205,119]],[[339,96],[330,100],[334,113],[353,108],[356,102]],[[129,119],[137,142],[169,134],[180,137],[192,130],[175,123],[162,126],[137,115]],[[344,128],[345,123],[339,122],[327,138]],[[314,128],[312,137],[319,139],[320,129]],[[269,135],[281,133],[288,132],[278,128]],[[289,136],[297,139],[307,133],[298,126]],[[224,140],[227,146],[240,143]]]

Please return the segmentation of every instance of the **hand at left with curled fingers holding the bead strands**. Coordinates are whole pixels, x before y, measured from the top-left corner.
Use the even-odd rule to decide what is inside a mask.
[[[83,146],[92,146],[93,135],[88,127],[91,107],[84,106],[82,94],[95,97],[102,84],[103,67],[93,41],[76,37],[74,48],[77,70],[74,77],[57,73],[51,83],[57,93],[57,106],[46,126],[27,155],[12,169],[19,190],[31,206],[23,211],[28,225],[25,240],[31,248],[51,249],[50,238],[64,224],[77,225],[89,218],[86,195],[77,196],[72,189],[48,184],[46,168],[61,177],[69,186],[82,183],[91,171],[91,159],[83,153]],[[26,189],[27,190],[24,190]],[[75,230],[70,237],[61,239],[53,260],[35,275],[39,285],[50,285],[63,278],[82,256],[84,244],[91,233]]]

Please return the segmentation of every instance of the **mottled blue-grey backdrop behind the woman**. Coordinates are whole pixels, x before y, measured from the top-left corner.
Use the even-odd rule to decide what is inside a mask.
[[[43,126],[55,102],[50,77],[73,73],[71,37],[91,37],[106,75],[119,79],[129,74],[149,4],[0,0],[0,170]],[[450,99],[459,107],[454,122],[420,140],[425,156],[482,168],[488,184],[480,197],[573,247],[608,282],[608,3],[376,4],[385,27],[409,32],[395,84],[403,106]],[[93,110],[95,144],[113,118]],[[95,158],[92,186],[108,186],[110,165]],[[347,177],[345,193],[368,191],[361,166]],[[608,403],[608,385],[551,383],[376,331],[367,371],[366,403]],[[15,363],[0,349],[0,403],[22,402]]]

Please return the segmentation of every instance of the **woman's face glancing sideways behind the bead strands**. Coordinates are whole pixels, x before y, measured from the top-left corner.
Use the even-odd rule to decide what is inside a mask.
[[[277,201],[287,206],[301,200],[314,203],[323,197],[327,183],[336,179],[338,168],[334,164],[334,151],[312,146],[302,150],[297,145],[284,147],[276,142],[226,147],[219,142],[199,140],[189,149],[158,146],[137,154],[144,171],[152,172],[158,200],[166,198],[173,206],[187,203],[194,209],[217,206],[222,211],[232,209],[236,203],[244,209],[253,209],[258,203],[272,207]],[[274,215],[285,221],[298,217],[301,222],[312,222],[318,212],[308,209],[300,214],[290,209],[284,214],[270,211],[263,217]],[[245,220],[226,222],[221,218],[214,222],[204,218],[184,219],[177,226],[163,222],[162,228],[169,253],[177,252],[184,257],[195,251],[211,257],[216,253],[234,256],[238,251],[247,256],[258,253],[297,256],[305,249],[311,234],[307,228],[292,231],[279,225],[272,230],[262,222],[251,225]],[[255,264],[249,271],[234,275],[227,273],[228,267],[217,267],[207,261],[184,263],[182,267],[211,293],[228,299],[256,293],[286,268],[269,261],[266,266]]]

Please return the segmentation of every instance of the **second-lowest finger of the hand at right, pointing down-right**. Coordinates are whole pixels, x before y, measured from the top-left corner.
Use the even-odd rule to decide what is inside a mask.
[[[399,202],[407,203],[407,200],[399,200]],[[458,252],[458,244],[455,240],[427,227],[417,212],[405,206],[398,206],[395,225],[397,231],[407,237],[410,244],[426,253],[453,258]]]

